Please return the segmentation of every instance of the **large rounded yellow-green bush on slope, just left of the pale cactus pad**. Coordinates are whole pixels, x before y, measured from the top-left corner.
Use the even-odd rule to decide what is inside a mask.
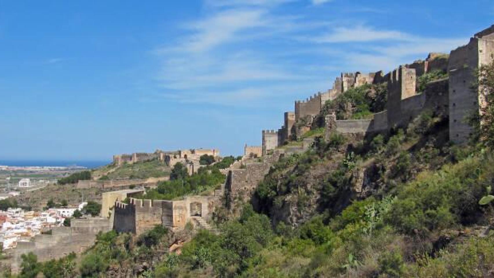
[[[437,173],[420,174],[415,182],[400,188],[386,222],[409,235],[469,222],[479,211],[484,163],[465,159]]]

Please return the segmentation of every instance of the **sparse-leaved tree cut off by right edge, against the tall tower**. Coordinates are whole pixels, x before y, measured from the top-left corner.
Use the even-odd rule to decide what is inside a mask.
[[[494,61],[478,70],[478,86],[481,96],[479,139],[487,147],[494,147]],[[477,118],[477,117],[474,117]],[[477,119],[478,119],[477,118]]]

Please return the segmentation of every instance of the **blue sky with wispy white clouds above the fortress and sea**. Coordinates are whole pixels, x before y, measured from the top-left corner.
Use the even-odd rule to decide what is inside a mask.
[[[494,23],[492,0],[403,3],[0,0],[0,159],[238,155],[340,72],[449,52]]]

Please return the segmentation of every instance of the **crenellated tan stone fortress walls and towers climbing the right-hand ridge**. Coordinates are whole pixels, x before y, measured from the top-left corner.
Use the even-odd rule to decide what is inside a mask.
[[[334,113],[329,113],[325,118],[327,137],[332,132],[387,133],[393,128],[406,126],[420,113],[431,111],[449,118],[450,140],[464,143],[472,134],[467,118],[479,111],[481,105],[478,90],[472,89],[476,83],[474,72],[480,65],[491,62],[493,54],[494,26],[475,34],[467,45],[458,47],[450,55],[430,53],[425,60],[401,65],[386,75],[382,71],[342,73],[327,92],[317,93],[305,101],[295,101],[295,112],[285,113],[285,124],[281,129],[262,131],[263,155],[286,144],[289,135],[293,134],[293,126],[301,126],[297,136],[310,130],[313,120],[321,114],[328,101],[365,84],[382,84],[387,88],[384,111],[373,114],[371,119],[347,120],[337,120]],[[429,81],[419,91],[419,79],[435,72],[446,78]],[[291,113],[294,120],[288,124],[287,114]]]

